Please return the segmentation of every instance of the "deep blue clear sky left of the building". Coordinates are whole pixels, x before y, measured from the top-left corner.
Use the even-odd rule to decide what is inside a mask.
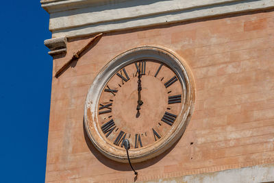
[[[1,2],[0,182],[45,182],[52,58],[40,1]]]

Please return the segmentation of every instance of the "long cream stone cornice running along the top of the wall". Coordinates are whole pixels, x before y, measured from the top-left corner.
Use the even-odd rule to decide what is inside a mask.
[[[41,1],[53,38],[163,25],[274,7],[274,0],[66,0]]]

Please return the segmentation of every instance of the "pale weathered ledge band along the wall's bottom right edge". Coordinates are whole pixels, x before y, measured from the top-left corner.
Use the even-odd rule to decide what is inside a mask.
[[[253,161],[247,161],[247,162],[239,162],[236,164],[222,164],[217,165],[214,167],[202,167],[198,169],[188,169],[184,171],[177,171],[177,172],[171,172],[171,173],[162,173],[161,175],[150,175],[150,176],[140,176],[138,177],[137,182],[195,182],[191,180],[203,180],[203,178],[216,178],[220,175],[225,175],[226,173],[235,173],[234,175],[238,175],[236,173],[244,173],[242,175],[242,178],[244,178],[247,174],[245,174],[245,171],[251,172],[254,175],[253,177],[249,179],[249,181],[246,182],[274,182],[274,158],[266,158],[266,159],[259,159],[259,160],[253,160]],[[229,174],[230,174],[229,173]],[[230,174],[232,175],[232,174]],[[239,175],[238,175],[239,176]],[[258,181],[255,181],[256,177],[258,177]],[[238,177],[239,178],[239,177]],[[246,176],[247,178],[247,176]],[[217,182],[216,180],[208,180],[205,179],[204,182]],[[230,179],[224,179],[227,180],[227,182],[244,182],[244,181],[229,181]],[[111,182],[111,181],[110,181]],[[113,181],[114,182],[114,181]],[[127,180],[127,182],[133,182],[132,180]],[[199,182],[199,181],[198,181]],[[201,181],[203,182],[203,181]],[[223,180],[221,182],[224,182]]]

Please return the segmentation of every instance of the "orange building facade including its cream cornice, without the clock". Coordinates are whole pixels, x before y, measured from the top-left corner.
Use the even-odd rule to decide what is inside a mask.
[[[50,14],[45,45],[53,56],[45,182],[274,181],[273,0],[41,4]],[[134,175],[92,143],[85,106],[110,61],[140,47],[180,58],[193,100],[184,132],[133,163]]]

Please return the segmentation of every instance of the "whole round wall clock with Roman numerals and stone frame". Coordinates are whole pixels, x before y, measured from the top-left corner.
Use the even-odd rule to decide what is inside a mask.
[[[99,72],[86,97],[84,124],[90,141],[112,160],[158,156],[177,141],[190,120],[195,83],[186,62],[168,49],[138,47]]]

